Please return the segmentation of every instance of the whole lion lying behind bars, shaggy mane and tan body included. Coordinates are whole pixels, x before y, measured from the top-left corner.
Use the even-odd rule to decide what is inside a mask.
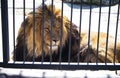
[[[106,50],[107,35],[100,32],[97,49],[97,34],[91,32],[88,43],[88,33],[80,34],[78,26],[62,16],[60,9],[40,6],[22,22],[13,58],[38,62],[120,62],[120,42],[114,49],[114,37],[109,36]]]

